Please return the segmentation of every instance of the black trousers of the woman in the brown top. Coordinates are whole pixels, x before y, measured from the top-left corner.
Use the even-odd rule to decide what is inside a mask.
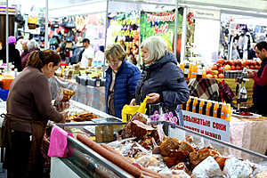
[[[43,158],[37,154],[36,169],[28,172],[28,156],[30,150],[30,134],[12,132],[12,148],[5,150],[4,165],[7,168],[7,178],[42,178]]]

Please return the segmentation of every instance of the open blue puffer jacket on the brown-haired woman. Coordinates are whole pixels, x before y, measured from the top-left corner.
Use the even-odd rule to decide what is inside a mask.
[[[117,69],[117,75],[114,85],[114,108],[116,117],[121,118],[121,110],[125,104],[130,104],[134,98],[135,87],[141,76],[140,70],[134,64],[123,61],[121,66]],[[112,80],[112,69],[109,67],[106,71],[106,112],[109,114],[108,98],[109,86]]]

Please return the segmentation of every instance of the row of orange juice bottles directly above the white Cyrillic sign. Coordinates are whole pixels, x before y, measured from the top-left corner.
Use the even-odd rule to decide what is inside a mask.
[[[190,96],[190,99],[181,105],[183,110],[195,112],[209,117],[231,120],[231,105],[228,103],[199,99]]]

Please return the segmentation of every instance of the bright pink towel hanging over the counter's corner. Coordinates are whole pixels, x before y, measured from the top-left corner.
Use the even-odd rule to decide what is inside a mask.
[[[66,158],[66,150],[68,145],[67,136],[70,135],[73,137],[71,133],[67,133],[59,126],[53,126],[51,136],[50,136],[50,145],[48,150],[49,157],[60,157]]]

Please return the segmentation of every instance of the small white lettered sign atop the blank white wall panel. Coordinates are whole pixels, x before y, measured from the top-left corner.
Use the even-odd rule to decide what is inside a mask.
[[[196,19],[221,20],[221,13],[219,11],[190,8],[189,12],[192,12]]]

